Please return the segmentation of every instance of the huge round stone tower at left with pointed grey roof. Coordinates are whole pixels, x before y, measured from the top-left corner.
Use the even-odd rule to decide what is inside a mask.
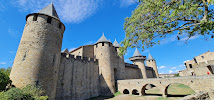
[[[12,84],[16,87],[41,86],[53,99],[65,26],[53,4],[27,15],[26,21],[10,74]]]

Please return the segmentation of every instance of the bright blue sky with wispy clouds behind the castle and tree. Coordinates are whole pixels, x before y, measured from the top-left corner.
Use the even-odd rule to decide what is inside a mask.
[[[84,2],[83,2],[84,1]],[[0,68],[12,66],[25,25],[27,14],[38,12],[51,0],[0,0]],[[66,26],[62,50],[70,50],[81,45],[93,44],[105,33],[112,42],[125,37],[124,18],[131,16],[137,4],[131,0],[54,0],[61,21]],[[172,34],[161,40],[160,45],[141,51],[156,59],[159,73],[176,73],[185,69],[183,62],[204,52],[214,51],[214,40],[204,36],[192,37],[185,44]],[[135,48],[128,49],[125,61]]]

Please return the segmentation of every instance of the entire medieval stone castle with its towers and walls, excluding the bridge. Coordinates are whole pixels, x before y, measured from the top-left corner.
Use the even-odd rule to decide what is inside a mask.
[[[93,45],[61,52],[64,30],[53,4],[27,15],[10,74],[13,85],[40,86],[51,100],[83,100],[113,95],[117,80],[158,77],[151,55],[146,59],[136,49],[133,64],[125,63],[118,42],[104,35]]]

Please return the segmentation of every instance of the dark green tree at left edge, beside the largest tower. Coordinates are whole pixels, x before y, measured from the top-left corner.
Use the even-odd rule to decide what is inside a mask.
[[[10,71],[10,67],[8,67],[7,69],[0,69],[0,91],[5,90],[6,86],[12,82],[9,78]]]

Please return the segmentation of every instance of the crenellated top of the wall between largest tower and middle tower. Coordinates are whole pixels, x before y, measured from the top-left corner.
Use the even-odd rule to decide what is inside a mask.
[[[83,56],[75,56],[72,54],[67,54],[67,53],[61,53],[61,56],[66,59],[70,60],[79,60],[83,62],[93,62],[95,64],[98,64],[98,59],[90,58],[90,57],[83,57]]]

